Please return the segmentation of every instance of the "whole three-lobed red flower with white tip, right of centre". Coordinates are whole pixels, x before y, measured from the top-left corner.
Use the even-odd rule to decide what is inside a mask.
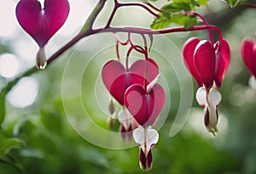
[[[198,104],[204,107],[205,126],[214,135],[218,132],[218,104],[221,94],[212,87],[221,87],[230,64],[230,47],[225,40],[214,45],[206,40],[193,37],[183,46],[185,65],[199,85],[196,93]]]

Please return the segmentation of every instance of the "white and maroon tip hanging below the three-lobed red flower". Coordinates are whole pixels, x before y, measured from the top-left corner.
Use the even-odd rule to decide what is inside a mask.
[[[196,100],[204,108],[205,126],[209,132],[215,135],[218,132],[218,104],[221,101],[221,94],[216,89],[207,92],[205,87],[200,87],[196,92]]]

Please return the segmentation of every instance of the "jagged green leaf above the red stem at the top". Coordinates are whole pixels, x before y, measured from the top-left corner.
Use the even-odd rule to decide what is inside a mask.
[[[186,29],[197,25],[195,16],[186,15],[184,11],[195,10],[195,7],[206,5],[208,0],[174,0],[172,3],[165,5],[161,8],[162,12],[160,17],[155,19],[151,25],[152,29],[163,29],[168,25],[174,23],[177,25],[183,25]]]

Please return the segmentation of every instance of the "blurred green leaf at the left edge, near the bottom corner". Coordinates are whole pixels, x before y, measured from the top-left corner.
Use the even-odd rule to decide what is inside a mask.
[[[7,138],[1,140],[0,158],[9,153],[11,149],[19,149],[24,146],[24,143],[19,138]]]

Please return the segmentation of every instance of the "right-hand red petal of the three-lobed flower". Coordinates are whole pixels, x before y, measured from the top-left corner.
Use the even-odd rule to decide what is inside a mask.
[[[221,87],[225,73],[230,65],[230,46],[226,40],[223,40],[216,53],[215,83],[216,87]]]

